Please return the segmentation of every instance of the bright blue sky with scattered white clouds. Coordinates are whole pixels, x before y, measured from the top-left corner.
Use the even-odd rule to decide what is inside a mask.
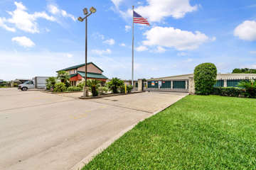
[[[212,62],[218,73],[256,69],[255,0],[1,0],[0,79],[55,76],[88,62],[108,78],[132,78],[132,6],[150,26],[134,24],[134,78],[191,74]]]

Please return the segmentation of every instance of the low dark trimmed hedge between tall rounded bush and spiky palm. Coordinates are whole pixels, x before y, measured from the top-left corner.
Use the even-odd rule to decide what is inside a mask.
[[[212,94],[219,96],[242,97],[245,96],[245,90],[238,87],[214,87]]]

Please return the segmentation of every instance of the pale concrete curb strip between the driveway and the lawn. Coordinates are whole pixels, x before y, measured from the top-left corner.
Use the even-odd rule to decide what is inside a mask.
[[[186,96],[188,96],[188,95],[186,95]],[[183,96],[183,98],[186,97],[186,96]],[[182,98],[178,99],[178,101],[181,100],[181,99]],[[176,102],[174,102],[174,103],[176,103]],[[166,108],[169,108],[174,103],[169,104],[168,106],[166,106],[165,108],[160,109],[159,111],[151,113],[151,115],[147,116],[146,118],[142,118],[137,123],[134,123],[133,125],[130,125],[128,128],[122,130],[117,135],[112,137],[110,140],[108,140],[107,142],[103,143],[100,147],[97,147],[97,149],[95,149],[93,152],[91,152],[89,155],[87,155],[87,157],[85,157],[80,162],[78,162],[78,164],[75,164],[75,166],[73,166],[70,170],[80,170],[80,169],[82,169],[82,167],[85,166],[86,164],[88,164],[95,156],[97,156],[97,154],[100,154],[103,150],[107,149],[107,147],[112,145],[112,143],[114,141],[118,140],[119,137],[122,137],[122,135],[124,135],[124,133],[128,132],[129,130],[132,130],[132,128],[134,128],[138,123],[146,120],[147,118],[150,118],[151,116],[156,115],[157,113],[159,113],[161,111],[164,111]]]

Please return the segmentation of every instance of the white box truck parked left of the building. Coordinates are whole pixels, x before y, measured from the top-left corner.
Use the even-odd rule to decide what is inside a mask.
[[[18,85],[18,89],[26,91],[28,89],[46,89],[46,79],[49,77],[34,77],[23,84]]]

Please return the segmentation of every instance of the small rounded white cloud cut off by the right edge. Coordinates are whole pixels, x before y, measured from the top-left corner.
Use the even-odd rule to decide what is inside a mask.
[[[256,40],[256,21],[244,21],[235,28],[234,35],[241,40]]]

